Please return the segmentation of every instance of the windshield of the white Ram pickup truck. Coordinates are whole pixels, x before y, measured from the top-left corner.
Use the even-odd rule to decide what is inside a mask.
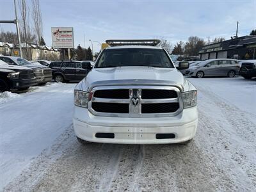
[[[95,64],[95,68],[125,66],[173,68],[172,61],[163,49],[106,49]]]

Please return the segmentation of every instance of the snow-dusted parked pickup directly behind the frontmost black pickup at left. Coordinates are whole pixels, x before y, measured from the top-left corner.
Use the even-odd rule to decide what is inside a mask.
[[[23,67],[32,68],[38,84],[45,84],[52,81],[52,70],[44,65],[36,65],[23,58],[13,56],[0,56],[0,60],[8,63],[9,65],[19,65]]]

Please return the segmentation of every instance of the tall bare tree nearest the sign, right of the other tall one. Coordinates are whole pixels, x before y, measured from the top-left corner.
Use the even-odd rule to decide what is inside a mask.
[[[36,44],[39,45],[39,55],[40,55],[40,41],[43,34],[43,21],[42,21],[42,13],[40,8],[39,0],[32,0],[32,17],[34,22],[34,29],[36,32]]]

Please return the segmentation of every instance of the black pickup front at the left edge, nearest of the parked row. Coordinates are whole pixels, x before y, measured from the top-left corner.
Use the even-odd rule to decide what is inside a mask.
[[[31,68],[8,65],[0,60],[0,92],[26,90],[36,84]]]

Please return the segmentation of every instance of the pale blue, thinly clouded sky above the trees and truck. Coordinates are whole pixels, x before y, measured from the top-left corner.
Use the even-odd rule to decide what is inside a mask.
[[[28,0],[29,4],[31,3]],[[226,39],[236,33],[249,35],[256,29],[256,0],[252,1],[82,1],[41,0],[44,39],[51,46],[51,27],[74,28],[75,45],[86,47],[88,40],[104,42],[111,38],[166,38],[172,44],[200,36]],[[31,10],[30,10],[31,12]],[[12,0],[0,0],[0,20],[14,19]],[[1,24],[15,31],[13,24]],[[93,42],[93,51],[99,43]],[[91,46],[92,47],[92,46]]]

